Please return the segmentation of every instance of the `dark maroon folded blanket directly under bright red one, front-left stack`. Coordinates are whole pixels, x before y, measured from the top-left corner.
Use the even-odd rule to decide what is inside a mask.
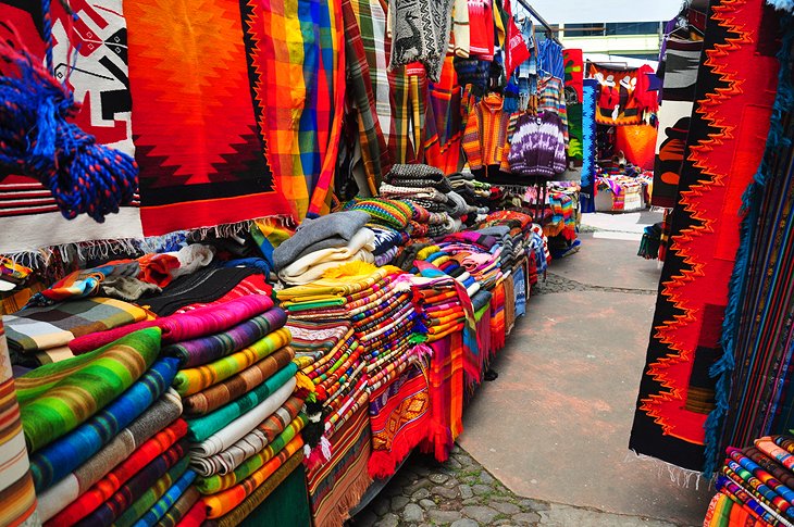
[[[88,527],[114,524],[116,518],[124,514],[153,485],[157,485],[156,482],[163,476],[166,476],[169,470],[178,467],[181,469],[179,475],[182,475],[188,468],[190,461],[189,456],[185,455],[186,452],[187,443],[183,439],[141,468],[135,476],[131,477],[113,495],[76,525]],[[169,482],[166,488],[170,486],[171,484]],[[163,489],[164,491],[165,489]],[[148,510],[149,507],[146,509]],[[142,511],[141,515],[145,512]],[[138,519],[138,517],[136,516],[134,519]]]

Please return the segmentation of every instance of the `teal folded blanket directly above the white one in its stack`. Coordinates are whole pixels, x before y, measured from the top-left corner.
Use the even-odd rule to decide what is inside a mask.
[[[244,415],[253,406],[264,402],[270,396],[274,394],[285,385],[291,385],[295,387],[295,374],[297,372],[298,366],[294,363],[289,363],[286,367],[282,368],[275,375],[265,380],[261,386],[258,386],[241,398],[232,401],[211,414],[187,419],[188,437],[193,441],[201,442],[234,419]],[[276,407],[278,407],[285,400],[286,398],[284,398]],[[266,415],[263,416],[262,419],[264,419],[264,417],[266,417]]]

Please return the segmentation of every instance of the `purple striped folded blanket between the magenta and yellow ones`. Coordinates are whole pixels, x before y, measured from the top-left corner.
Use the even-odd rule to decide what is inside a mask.
[[[271,308],[223,332],[165,346],[162,353],[178,357],[183,368],[199,366],[251,346],[284,327],[286,322],[287,314],[282,309]]]

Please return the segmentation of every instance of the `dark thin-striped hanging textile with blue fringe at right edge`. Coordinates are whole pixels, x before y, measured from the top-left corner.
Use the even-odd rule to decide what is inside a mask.
[[[724,404],[709,415],[710,463],[729,446],[794,427],[794,18],[781,21],[786,35],[778,100],[764,161],[744,195],[748,214],[725,311],[725,356],[716,369],[717,400]]]

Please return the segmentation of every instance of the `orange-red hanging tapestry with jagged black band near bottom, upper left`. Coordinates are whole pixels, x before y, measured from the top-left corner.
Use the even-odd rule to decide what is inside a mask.
[[[239,4],[124,9],[145,234],[289,214],[295,195],[276,189],[257,130]]]

